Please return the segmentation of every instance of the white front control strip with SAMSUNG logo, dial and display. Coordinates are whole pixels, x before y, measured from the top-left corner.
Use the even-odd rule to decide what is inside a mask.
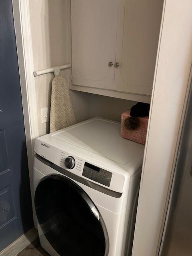
[[[102,158],[102,161],[98,159],[95,162],[94,158],[89,155],[85,156],[72,149],[69,152],[65,151],[40,138],[36,139],[34,151],[56,166],[81,178],[106,186],[112,191],[122,193],[125,182],[129,179],[129,175],[124,168],[117,168],[116,164],[113,163],[109,166],[108,160],[104,162]]]

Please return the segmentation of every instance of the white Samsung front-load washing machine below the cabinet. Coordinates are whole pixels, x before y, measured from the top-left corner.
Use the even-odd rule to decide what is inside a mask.
[[[144,146],[92,118],[38,138],[35,225],[52,256],[131,255]]]

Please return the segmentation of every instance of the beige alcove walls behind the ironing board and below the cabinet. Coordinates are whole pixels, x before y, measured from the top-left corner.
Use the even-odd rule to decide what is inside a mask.
[[[34,70],[71,63],[70,0],[29,0]],[[67,82],[71,70],[60,72]],[[39,135],[49,132],[49,122],[42,124],[41,108],[50,108],[53,74],[35,78]],[[71,91],[77,122],[93,116],[120,121],[120,114],[132,102],[84,92]]]

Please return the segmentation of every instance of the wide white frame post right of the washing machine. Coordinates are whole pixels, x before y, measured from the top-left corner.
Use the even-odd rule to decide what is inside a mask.
[[[164,0],[132,256],[159,255],[192,78],[191,9]]]

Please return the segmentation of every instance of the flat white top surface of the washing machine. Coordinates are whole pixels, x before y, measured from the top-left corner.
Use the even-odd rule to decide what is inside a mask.
[[[92,118],[49,136],[120,164],[127,164],[136,156],[143,158],[144,145],[122,138],[120,123],[111,120]]]

